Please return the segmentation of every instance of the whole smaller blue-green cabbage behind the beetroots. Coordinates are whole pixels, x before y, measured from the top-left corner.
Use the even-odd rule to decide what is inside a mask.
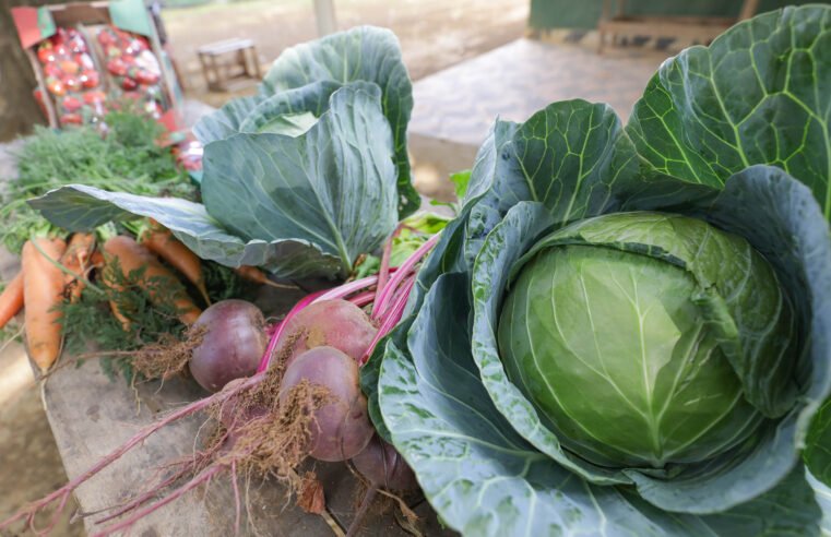
[[[405,147],[411,109],[395,36],[355,28],[286,50],[259,95],[194,127],[204,205],[79,186],[33,205],[71,229],[150,216],[227,266],[346,277],[420,203]]]

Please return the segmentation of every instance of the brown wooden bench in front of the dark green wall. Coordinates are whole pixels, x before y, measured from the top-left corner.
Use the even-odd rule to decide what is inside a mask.
[[[617,0],[613,16],[613,0],[603,0],[603,13],[597,25],[598,51],[603,52],[607,36],[614,44],[621,35],[645,37],[672,37],[692,44],[709,45],[727,28],[756,14],[759,0],[745,0],[738,17],[690,15],[627,15],[626,1]]]

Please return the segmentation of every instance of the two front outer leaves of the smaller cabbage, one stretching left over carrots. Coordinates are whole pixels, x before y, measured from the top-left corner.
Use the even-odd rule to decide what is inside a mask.
[[[356,82],[299,135],[239,133],[205,147],[204,205],[71,186],[31,204],[58,226],[88,230],[150,216],[200,258],[281,277],[345,275],[397,222],[392,135],[381,92]]]

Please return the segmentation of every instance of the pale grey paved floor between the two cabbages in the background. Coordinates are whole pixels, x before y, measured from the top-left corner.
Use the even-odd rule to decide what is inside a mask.
[[[626,121],[666,53],[518,39],[426,76],[413,88],[409,146],[417,188],[448,200],[451,171],[470,168],[497,117],[524,121],[549,103],[608,103]]]

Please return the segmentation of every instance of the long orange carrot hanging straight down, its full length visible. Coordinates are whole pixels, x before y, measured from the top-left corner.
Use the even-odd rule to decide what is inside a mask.
[[[55,363],[61,346],[61,313],[55,308],[63,300],[63,273],[56,265],[67,244],[62,240],[33,239],[23,246],[24,326],[28,355],[41,372]],[[39,250],[38,250],[39,248]],[[41,253],[43,252],[43,253]],[[47,255],[51,259],[47,259]]]

